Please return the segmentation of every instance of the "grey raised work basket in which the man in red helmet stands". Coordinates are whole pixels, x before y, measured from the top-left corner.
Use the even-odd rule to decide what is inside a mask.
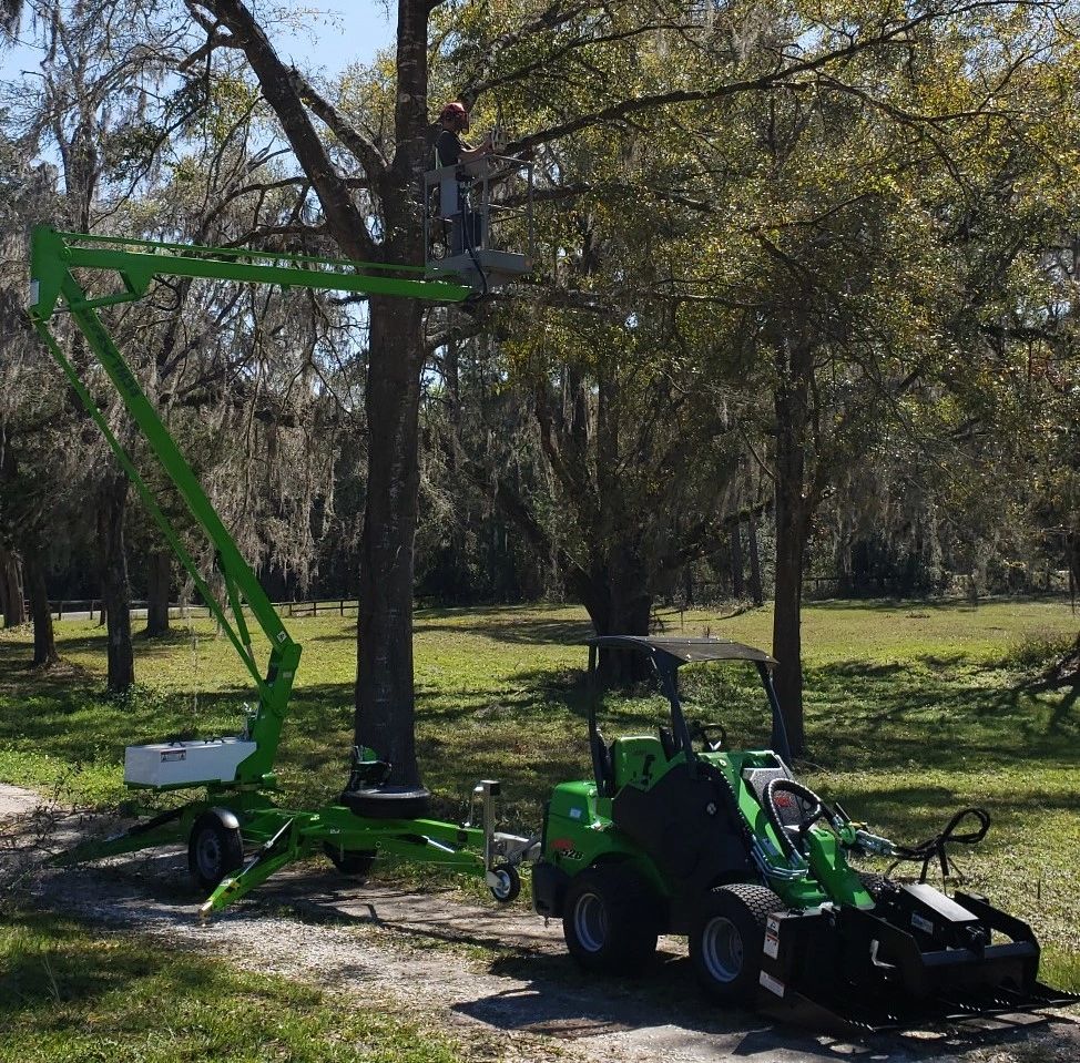
[[[533,163],[485,155],[424,175],[428,277],[460,277],[478,295],[517,280],[536,259]]]

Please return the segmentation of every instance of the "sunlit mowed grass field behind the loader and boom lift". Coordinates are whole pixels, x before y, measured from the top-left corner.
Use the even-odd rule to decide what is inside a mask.
[[[756,610],[663,612],[668,633],[767,646]],[[1080,707],[1077,691],[1042,689],[1045,658],[1074,636],[1062,602],[840,603],[806,607],[806,781],[899,841],[934,835],[956,808],[989,809],[986,842],[957,857],[975,888],[1030,919],[1043,971],[1080,989]],[[304,645],[279,765],[286,799],[332,799],[351,743],[355,621],[289,623]],[[550,787],[588,773],[583,679],[590,628],[573,607],[421,610],[416,616],[417,734],[440,811],[461,816],[479,778],[505,783],[511,827],[534,828]],[[79,801],[123,796],[123,747],[240,729],[251,691],[206,622],[164,642],[140,641],[140,688],[101,696],[104,635],[59,627],[69,666],[35,676],[29,634],[0,635],[0,780],[58,783]],[[753,678],[684,670],[687,714],[726,722],[734,745],[767,735]],[[649,732],[663,703],[609,695],[604,729]]]

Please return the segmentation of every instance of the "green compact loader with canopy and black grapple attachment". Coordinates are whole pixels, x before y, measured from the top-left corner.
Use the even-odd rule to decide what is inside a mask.
[[[561,917],[583,969],[633,973],[659,936],[683,934],[713,1001],[860,1032],[1076,1002],[1039,982],[1027,923],[926,881],[935,861],[948,867],[950,844],[982,839],[985,811],[964,809],[938,837],[896,845],[794,777],[766,653],[716,638],[615,635],[589,646],[593,679],[598,652],[645,654],[670,718],[656,734],[608,743],[593,698],[593,778],[551,795],[534,904]],[[687,720],[677,674],[690,662],[756,668],[772,748],[731,749],[721,724]],[[918,881],[849,862],[867,855],[921,862]]]

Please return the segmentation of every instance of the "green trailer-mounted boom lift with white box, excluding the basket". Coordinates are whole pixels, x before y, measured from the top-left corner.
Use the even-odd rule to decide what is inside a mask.
[[[477,249],[477,269],[483,267],[485,254],[485,248]],[[498,268],[506,279],[526,272],[528,263],[522,256],[500,252]],[[442,304],[472,298],[476,278],[470,278],[471,284],[460,283],[455,275],[430,266],[387,266],[151,243],[63,233],[44,226],[33,232],[31,269],[29,313],[34,326],[244,662],[257,695],[257,707],[240,735],[129,746],[124,758],[128,786],[156,791],[204,788],[205,796],[140,822],[118,837],[84,846],[69,855],[69,860],[95,859],[187,839],[192,876],[200,886],[213,891],[203,906],[204,914],[242,897],[289,861],[318,850],[324,850],[347,873],[365,873],[376,856],[478,873],[497,899],[511,900],[520,888],[517,867],[533,842],[496,832],[493,799],[499,784],[493,780],[482,780],[472,794],[472,808],[477,803],[482,807],[482,826],[427,818],[427,790],[388,785],[389,765],[370,749],[354,750],[351,776],[338,801],[315,810],[281,808],[274,801],[274,762],[300,646],[282,623],[98,313],[104,306],[141,299],[159,276],[207,277]],[[79,279],[84,276],[111,279],[109,294],[89,295]],[[224,584],[223,599],[198,571],[50,330],[50,321],[61,311],[85,337],[135,426],[210,539]],[[265,671],[259,667],[252,644],[248,613],[269,643]]]

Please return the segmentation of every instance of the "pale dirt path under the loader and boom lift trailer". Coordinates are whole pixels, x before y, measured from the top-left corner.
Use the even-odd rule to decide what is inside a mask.
[[[0,832],[32,829],[32,795],[0,786]],[[61,832],[85,829],[63,820]],[[0,851],[0,860],[12,850]],[[282,873],[214,922],[201,924],[184,854],[157,851],[108,867],[50,872],[42,907],[82,916],[106,932],[137,931],[176,948],[213,950],[258,971],[333,988],[446,1029],[476,1060],[696,1063],[1074,1063],[1080,1024],[1042,1023],[921,1036],[837,1042],[745,1012],[704,1008],[684,950],[661,942],[639,982],[587,979],[566,954],[561,928],[523,907],[496,909],[448,892],[357,887],[333,869]],[[992,1025],[992,1024],[991,1024]]]

